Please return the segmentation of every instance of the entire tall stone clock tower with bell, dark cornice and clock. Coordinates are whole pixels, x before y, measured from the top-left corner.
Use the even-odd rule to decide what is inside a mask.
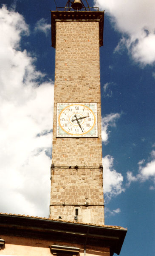
[[[56,58],[50,218],[101,225],[104,12],[80,0],[69,3],[51,12]]]

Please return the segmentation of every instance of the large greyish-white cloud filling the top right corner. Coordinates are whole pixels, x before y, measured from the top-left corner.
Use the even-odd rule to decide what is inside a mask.
[[[135,61],[155,61],[154,0],[98,0],[99,7],[110,16],[115,29],[123,34],[115,51],[125,46]]]

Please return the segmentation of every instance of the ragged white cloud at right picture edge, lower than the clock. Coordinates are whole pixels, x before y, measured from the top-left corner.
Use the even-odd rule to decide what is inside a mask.
[[[150,153],[152,160],[145,164],[145,160],[138,162],[139,169],[138,174],[133,175],[132,172],[127,172],[127,185],[130,186],[130,183],[133,181],[144,182],[146,180],[151,180],[155,183],[155,150],[152,150]],[[154,186],[150,186],[150,189],[154,189]]]

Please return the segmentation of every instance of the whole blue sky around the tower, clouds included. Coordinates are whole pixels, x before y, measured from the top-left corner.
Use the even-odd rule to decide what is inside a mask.
[[[67,1],[56,0],[57,6]],[[0,212],[48,216],[54,0],[0,5]],[[84,1],[85,3],[85,1]],[[89,0],[93,6],[93,1]],[[120,255],[153,255],[155,2],[98,0],[105,224],[127,227]]]

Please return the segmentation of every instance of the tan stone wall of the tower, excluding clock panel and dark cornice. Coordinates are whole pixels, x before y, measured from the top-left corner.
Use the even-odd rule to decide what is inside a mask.
[[[97,102],[99,137],[56,138],[58,102]],[[51,218],[74,221],[76,208],[78,221],[104,224],[101,163],[99,22],[60,20],[56,22]]]

